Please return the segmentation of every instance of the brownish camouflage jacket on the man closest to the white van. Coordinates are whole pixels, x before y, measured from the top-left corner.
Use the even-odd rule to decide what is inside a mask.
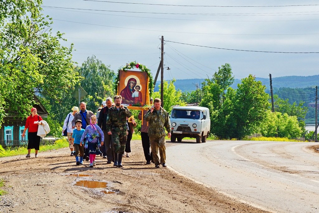
[[[165,136],[165,129],[168,133],[171,132],[171,122],[168,113],[162,107],[160,108],[159,115],[157,115],[155,109],[152,113],[151,110],[148,110],[144,115],[144,119],[149,121],[148,136],[150,137],[160,138]]]

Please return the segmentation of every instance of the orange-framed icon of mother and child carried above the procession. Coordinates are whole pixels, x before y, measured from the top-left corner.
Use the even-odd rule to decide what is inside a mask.
[[[142,106],[146,104],[148,92],[148,76],[146,72],[119,71],[118,94],[122,96],[122,104],[126,106]]]

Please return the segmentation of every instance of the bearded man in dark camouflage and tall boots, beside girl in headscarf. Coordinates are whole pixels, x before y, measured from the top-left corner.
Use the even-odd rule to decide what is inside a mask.
[[[108,135],[111,135],[111,141],[114,144],[114,164],[113,166],[122,166],[122,155],[125,150],[127,138],[126,118],[132,116],[130,110],[122,105],[122,96],[114,96],[115,106],[108,109],[106,128]]]

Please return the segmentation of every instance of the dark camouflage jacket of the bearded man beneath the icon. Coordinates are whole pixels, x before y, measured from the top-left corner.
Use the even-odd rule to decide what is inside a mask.
[[[124,109],[117,110],[116,107],[108,109],[108,117],[106,119],[107,131],[123,132],[127,130],[126,118],[132,116],[130,110],[124,106]]]

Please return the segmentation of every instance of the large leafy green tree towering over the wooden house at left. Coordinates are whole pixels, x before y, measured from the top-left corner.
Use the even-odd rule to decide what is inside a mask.
[[[41,0],[7,0],[0,11],[0,126],[8,113],[29,115],[33,95],[61,100],[79,80],[72,61],[73,44],[60,44],[51,19],[41,14]],[[17,101],[19,100],[19,101]]]

